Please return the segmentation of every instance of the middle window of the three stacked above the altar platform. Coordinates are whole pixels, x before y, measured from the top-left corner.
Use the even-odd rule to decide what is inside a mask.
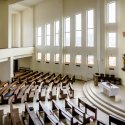
[[[116,47],[116,33],[108,33],[108,47]]]

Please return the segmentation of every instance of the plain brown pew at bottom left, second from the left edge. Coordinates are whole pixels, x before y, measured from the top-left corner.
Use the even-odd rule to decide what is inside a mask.
[[[10,114],[13,125],[23,125],[20,120],[19,109],[14,109],[12,103],[10,104]]]

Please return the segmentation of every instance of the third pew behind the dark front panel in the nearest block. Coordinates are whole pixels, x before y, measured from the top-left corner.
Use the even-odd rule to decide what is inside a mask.
[[[39,112],[44,113],[44,122],[50,121],[53,125],[62,125],[62,122],[59,121],[53,111],[48,109],[47,106],[45,106],[45,104],[42,104],[41,101],[39,102]]]

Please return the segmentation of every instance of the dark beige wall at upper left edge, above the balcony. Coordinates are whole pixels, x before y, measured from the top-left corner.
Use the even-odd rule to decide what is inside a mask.
[[[8,1],[0,1],[0,48],[8,48]]]

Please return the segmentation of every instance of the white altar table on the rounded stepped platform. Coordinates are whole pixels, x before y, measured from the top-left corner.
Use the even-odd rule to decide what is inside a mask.
[[[100,82],[99,87],[108,96],[116,96],[120,91],[119,87],[109,82]]]

